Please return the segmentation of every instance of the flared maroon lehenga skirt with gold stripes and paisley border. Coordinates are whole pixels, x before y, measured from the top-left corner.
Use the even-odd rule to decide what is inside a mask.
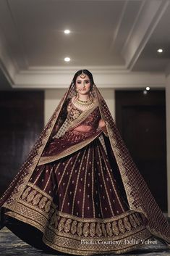
[[[54,154],[76,140],[85,141],[85,135],[67,132],[44,152]],[[9,229],[44,250],[119,254],[152,236],[144,215],[129,210],[109,139],[101,132],[74,153],[38,165],[15,210],[4,211]]]

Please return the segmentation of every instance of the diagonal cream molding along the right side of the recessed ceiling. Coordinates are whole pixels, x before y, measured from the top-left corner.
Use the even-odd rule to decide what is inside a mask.
[[[132,70],[132,67],[134,67],[168,6],[169,0],[143,1],[121,52],[127,69]]]

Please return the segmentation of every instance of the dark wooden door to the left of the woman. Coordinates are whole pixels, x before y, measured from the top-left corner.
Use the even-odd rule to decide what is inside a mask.
[[[0,194],[7,189],[43,129],[43,91],[1,91]]]

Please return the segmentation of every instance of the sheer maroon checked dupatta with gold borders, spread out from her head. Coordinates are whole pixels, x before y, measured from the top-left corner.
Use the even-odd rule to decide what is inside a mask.
[[[109,107],[103,99],[103,96],[101,96],[100,92],[98,91],[98,88],[96,88],[95,84],[93,84],[91,93],[96,99],[101,117],[106,123],[106,128],[109,135],[108,138],[116,159],[116,163],[119,167],[119,173],[122,177],[129,209],[134,210],[135,212],[143,213],[145,218],[148,220],[147,228],[150,233],[153,234],[153,236],[157,236],[158,238],[170,243],[169,223],[163,215],[163,212],[161,212],[161,209],[158,207],[153,195],[150,193],[150,190],[148,189],[143,177],[140,175],[139,170],[137,170],[137,166],[133,162],[129,151],[124,145],[124,141],[122,141],[119,131],[116,128],[113,117],[109,111]],[[72,127],[72,123],[61,123],[61,119],[64,117],[66,112],[67,102],[72,98],[72,96],[75,96],[75,86],[73,83],[69,86],[69,89],[59,102],[58,107],[56,107],[54,114],[51,116],[50,120],[48,120],[45,128],[43,128],[43,131],[35,142],[33,149],[30,151],[30,154],[28,154],[27,159],[20,168],[20,172],[17,173],[17,176],[15,176],[7,191],[5,191],[3,197],[1,197],[1,207],[14,210],[17,206],[17,201],[20,199],[25,186],[27,186],[30,176],[32,176],[36,166],[40,165],[41,161],[43,160],[43,157],[41,158],[41,154],[43,153],[43,149],[48,143],[48,140],[51,139],[51,135],[54,133],[55,125],[59,125],[59,127],[61,126],[59,131],[56,133],[56,136],[61,136],[64,131],[67,131],[70,127]],[[83,115],[82,120],[89,115],[89,112],[85,111],[83,112]],[[84,141],[83,143],[80,147],[87,144],[88,140]],[[74,150],[76,151],[77,148],[73,147],[72,152],[74,152]],[[67,152],[67,155],[68,154],[69,153]]]

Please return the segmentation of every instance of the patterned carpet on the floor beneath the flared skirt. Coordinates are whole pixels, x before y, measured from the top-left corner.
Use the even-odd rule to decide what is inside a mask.
[[[3,228],[0,231],[0,255],[1,256],[54,256],[57,255],[42,252],[41,250],[35,249],[24,241],[20,240],[17,236],[12,234],[7,228]],[[59,254],[62,255],[62,254]],[[112,254],[113,255],[113,254]],[[137,251],[129,252],[122,256],[170,256],[170,249],[168,249],[160,241],[156,240],[155,244],[147,245],[143,248],[137,249]],[[111,256],[111,255],[110,255]]]

